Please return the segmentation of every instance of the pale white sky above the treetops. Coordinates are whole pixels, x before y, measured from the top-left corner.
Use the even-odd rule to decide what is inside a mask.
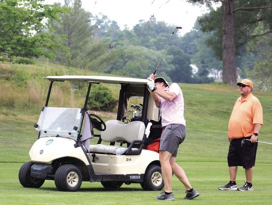
[[[47,0],[46,3],[63,0]],[[132,29],[140,20],[148,21],[152,15],[157,21],[181,26],[179,34],[189,32],[198,16],[207,13],[205,6],[198,7],[185,0],[82,0],[82,7],[94,15],[102,13],[111,21],[116,21],[120,29],[127,25]]]

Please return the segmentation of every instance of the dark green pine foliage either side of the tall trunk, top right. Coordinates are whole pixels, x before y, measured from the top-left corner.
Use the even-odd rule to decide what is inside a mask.
[[[206,1],[206,0],[188,0],[188,2],[198,2],[200,4],[213,3],[218,1]],[[235,1],[234,10],[235,10],[235,44],[236,55],[243,55],[245,49],[243,45],[247,43],[248,40],[258,38],[259,35],[252,35],[254,29],[258,27],[259,23],[262,22],[264,29],[260,31],[259,34],[266,32],[265,29],[270,29],[269,25],[271,24],[271,0],[262,1]],[[264,8],[266,6],[266,8]],[[244,12],[243,9],[246,12]],[[201,30],[203,32],[213,32],[213,35],[206,40],[207,45],[211,46],[215,51],[216,56],[219,59],[222,58],[222,8],[219,7],[214,10],[210,7],[210,13],[203,15],[197,19],[200,24]]]

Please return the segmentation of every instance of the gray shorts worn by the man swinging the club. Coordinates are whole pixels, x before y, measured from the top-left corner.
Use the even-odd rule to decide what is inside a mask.
[[[160,151],[167,151],[172,157],[177,157],[178,146],[184,141],[186,126],[183,124],[168,124],[161,135]]]

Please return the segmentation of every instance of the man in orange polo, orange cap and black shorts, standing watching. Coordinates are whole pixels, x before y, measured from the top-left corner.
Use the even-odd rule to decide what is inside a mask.
[[[230,182],[225,186],[219,186],[220,190],[253,191],[252,177],[255,165],[258,143],[258,133],[262,122],[262,107],[260,101],[252,95],[253,83],[244,79],[237,83],[240,87],[239,97],[233,107],[229,120],[230,141],[228,153],[228,166]],[[247,141],[246,139],[250,139]],[[246,183],[237,188],[237,166],[245,169]]]

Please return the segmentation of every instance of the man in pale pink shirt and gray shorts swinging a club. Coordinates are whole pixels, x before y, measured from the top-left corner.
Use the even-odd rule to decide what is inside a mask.
[[[193,199],[199,195],[193,189],[183,169],[176,163],[178,146],[185,139],[186,124],[183,116],[184,100],[178,84],[169,83],[162,77],[156,78],[151,74],[148,78],[149,92],[157,107],[161,108],[162,127],[164,131],[160,143],[160,163],[165,190],[157,195],[160,200],[175,200],[172,193],[172,173],[184,184],[186,196],[184,199]]]

